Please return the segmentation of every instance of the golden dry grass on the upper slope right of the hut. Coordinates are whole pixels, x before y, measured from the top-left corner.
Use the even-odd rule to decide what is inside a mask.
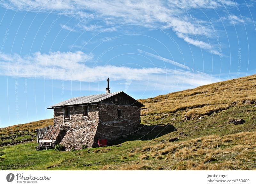
[[[144,115],[182,111],[195,118],[235,104],[254,103],[255,87],[256,75],[251,75],[139,101],[148,108],[145,113],[142,112]]]

